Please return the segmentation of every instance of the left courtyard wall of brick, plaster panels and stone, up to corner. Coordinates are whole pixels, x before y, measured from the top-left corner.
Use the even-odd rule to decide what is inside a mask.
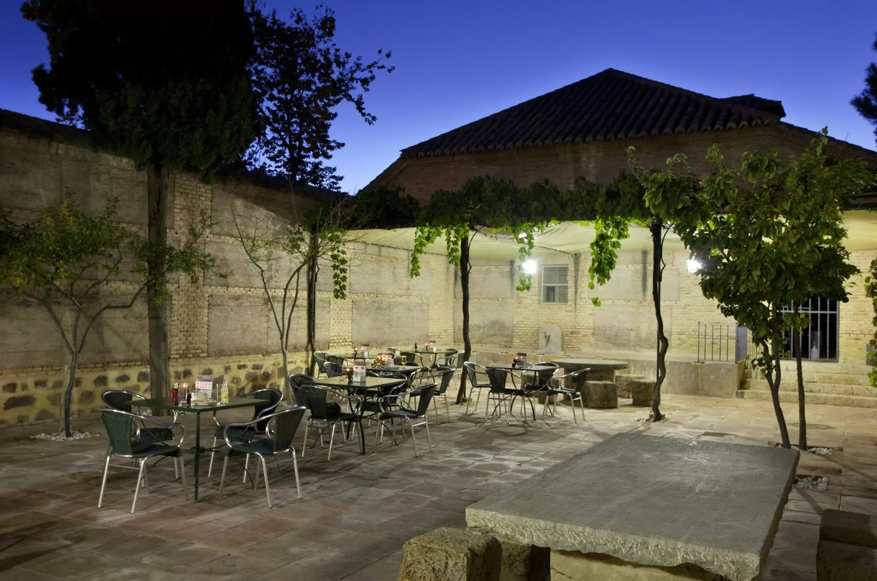
[[[14,219],[32,219],[46,205],[75,194],[88,212],[99,212],[108,197],[122,204],[121,221],[146,234],[146,176],[124,158],[55,143],[0,128],[0,208]],[[282,385],[282,358],[274,319],[259,271],[246,260],[235,219],[260,232],[278,232],[303,216],[314,202],[236,179],[203,183],[175,172],[170,183],[168,237],[181,240],[206,212],[217,224],[201,243],[217,258],[216,272],[193,284],[170,281],[171,370],[176,381],[211,374],[233,388]],[[436,339],[453,341],[454,269],[442,257],[425,256],[423,275],[408,276],[409,253],[352,243],[350,288],[346,300],[332,297],[332,272],[320,270],[317,283],[317,348],[346,352],[354,342],[374,348]],[[267,285],[274,298],[294,264],[267,263]],[[130,296],[131,280],[112,283],[108,292]],[[291,370],[306,364],[305,285],[289,341]],[[68,355],[48,314],[29,299],[0,290],[0,426],[58,420],[67,383]],[[68,313],[63,322],[71,322]],[[107,312],[89,335],[74,398],[75,412],[101,407],[100,392],[118,387],[148,391],[146,302],[131,310]]]

